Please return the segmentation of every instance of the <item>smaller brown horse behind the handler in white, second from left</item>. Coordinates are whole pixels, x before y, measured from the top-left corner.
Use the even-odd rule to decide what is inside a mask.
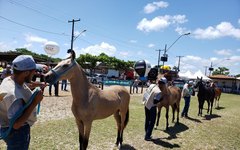
[[[161,115],[161,109],[164,106],[166,108],[166,130],[168,130],[168,112],[169,106],[172,107],[172,122],[175,120],[175,110],[177,109],[177,123],[179,123],[179,110],[180,110],[180,101],[181,101],[181,90],[176,86],[167,86],[167,84],[159,84],[159,88],[163,94],[163,100],[158,103],[158,115],[156,128],[159,124],[159,119]]]

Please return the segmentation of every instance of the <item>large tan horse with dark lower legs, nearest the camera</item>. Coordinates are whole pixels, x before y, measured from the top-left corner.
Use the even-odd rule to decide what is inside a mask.
[[[100,90],[89,83],[81,66],[72,57],[61,61],[46,74],[46,81],[50,84],[58,80],[68,79],[71,83],[73,97],[72,112],[79,130],[79,148],[87,149],[93,120],[104,119],[114,115],[117,122],[116,145],[121,147],[123,130],[129,119],[130,94],[122,86],[111,86],[109,90]]]

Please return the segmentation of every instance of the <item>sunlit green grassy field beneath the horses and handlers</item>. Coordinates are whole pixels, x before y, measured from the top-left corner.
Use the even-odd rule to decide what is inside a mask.
[[[144,107],[142,95],[133,95],[130,103],[130,120],[124,131],[126,150],[157,149],[240,149],[240,96],[223,94],[220,108],[213,109],[213,115],[197,116],[197,97],[190,104],[190,118],[180,118],[180,124],[170,122],[165,131],[165,109],[162,109],[160,126],[153,131],[153,141],[144,141]],[[205,104],[205,108],[206,108]],[[183,99],[181,101],[181,110]],[[170,120],[172,113],[170,111]],[[113,117],[93,123],[88,149],[115,149],[116,124]],[[31,150],[76,150],[78,149],[78,130],[73,117],[67,119],[36,123],[32,128]],[[0,149],[5,145],[0,141]]]

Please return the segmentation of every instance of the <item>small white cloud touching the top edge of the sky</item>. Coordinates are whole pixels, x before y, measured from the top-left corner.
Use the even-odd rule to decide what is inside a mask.
[[[158,10],[159,8],[166,8],[166,7],[168,7],[168,3],[164,2],[164,1],[148,3],[144,7],[144,13],[150,14],[150,13]]]

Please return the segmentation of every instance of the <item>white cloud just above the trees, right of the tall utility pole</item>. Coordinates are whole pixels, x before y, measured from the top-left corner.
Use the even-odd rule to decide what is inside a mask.
[[[108,43],[102,42],[101,44],[92,45],[80,50],[80,53],[89,53],[91,55],[99,55],[105,53],[109,56],[113,56],[116,53],[116,48]]]

